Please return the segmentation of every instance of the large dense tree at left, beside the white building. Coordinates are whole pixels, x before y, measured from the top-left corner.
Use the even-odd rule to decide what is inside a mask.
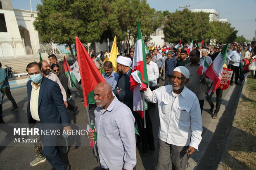
[[[43,42],[58,44],[97,42],[103,32],[102,7],[98,0],[41,0],[34,26]],[[73,51],[71,56],[75,61]]]

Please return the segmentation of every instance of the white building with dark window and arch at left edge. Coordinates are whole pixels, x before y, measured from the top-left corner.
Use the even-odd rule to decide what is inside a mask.
[[[40,44],[33,27],[36,16],[36,11],[13,9],[11,0],[0,1],[0,59],[36,56]]]

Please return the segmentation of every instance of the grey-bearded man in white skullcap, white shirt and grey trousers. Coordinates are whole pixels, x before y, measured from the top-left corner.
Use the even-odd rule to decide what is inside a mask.
[[[159,145],[157,170],[185,170],[187,154],[193,154],[201,142],[202,118],[197,96],[185,85],[190,72],[184,66],[173,70],[172,85],[154,91],[147,88],[145,99],[158,103]]]

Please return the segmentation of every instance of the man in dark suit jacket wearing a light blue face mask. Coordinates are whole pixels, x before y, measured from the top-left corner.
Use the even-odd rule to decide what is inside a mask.
[[[29,126],[36,123],[41,130],[71,130],[67,109],[59,85],[41,75],[38,63],[29,63],[26,68],[31,80],[27,82]],[[45,124],[47,123],[47,125]],[[40,133],[39,133],[40,134]],[[61,133],[62,134],[62,133]],[[43,153],[55,170],[66,170],[57,149],[57,135],[43,135],[40,138],[44,144]]]

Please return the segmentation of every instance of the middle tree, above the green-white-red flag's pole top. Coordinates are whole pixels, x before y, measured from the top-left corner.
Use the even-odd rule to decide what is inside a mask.
[[[150,8],[146,0],[117,0],[111,3],[109,9],[109,24],[119,41],[129,43],[131,38],[136,40],[137,21],[141,23],[141,31],[145,41],[150,40],[150,34],[161,26],[164,19],[161,12]]]

